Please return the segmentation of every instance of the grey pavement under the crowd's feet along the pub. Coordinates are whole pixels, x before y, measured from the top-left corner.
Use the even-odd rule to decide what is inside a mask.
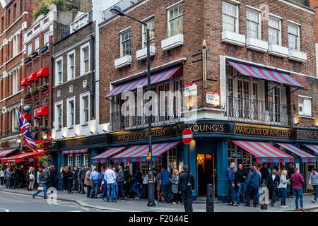
[[[9,192],[13,194],[25,194],[29,195],[30,198],[35,191],[27,191],[27,189],[6,189],[4,186],[0,187],[1,192]],[[39,194],[43,196],[43,192]],[[98,197],[101,196],[98,195]],[[183,205],[173,205],[172,203],[161,203],[158,202],[155,207],[148,207],[148,201],[144,198],[140,200],[134,200],[134,198],[129,198],[124,201],[119,200],[117,203],[106,203],[102,201],[102,198],[86,198],[86,194],[68,194],[66,192],[57,191],[57,198],[62,201],[73,201],[78,203],[83,207],[88,208],[98,208],[100,210],[112,210],[112,211],[125,211],[125,212],[184,212]],[[318,208],[318,203],[312,203],[311,200],[314,198],[313,195],[304,196],[304,208],[306,210],[312,208]],[[289,208],[280,208],[280,203],[277,203],[276,206],[268,206],[268,210],[261,210],[260,206],[257,208],[245,207],[241,204],[238,207],[228,206],[227,203],[216,203],[214,204],[214,209],[216,212],[283,212],[283,211],[293,211],[295,210],[295,198],[287,198],[286,204]],[[206,212],[206,204],[193,204],[194,212]]]

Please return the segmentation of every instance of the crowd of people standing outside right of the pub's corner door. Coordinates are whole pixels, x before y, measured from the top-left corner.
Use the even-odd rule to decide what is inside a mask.
[[[226,172],[228,182],[228,205],[239,206],[245,203],[250,206],[250,199],[253,199],[253,206],[265,203],[261,200],[261,191],[267,191],[271,199],[271,206],[276,206],[276,201],[281,201],[281,208],[286,206],[286,198],[295,198],[295,209],[304,211],[303,188],[304,179],[300,170],[292,163],[285,169],[285,165],[271,167],[271,163],[264,163],[261,169],[257,164],[245,169],[240,164],[235,172],[235,163],[231,162]],[[314,198],[312,203],[316,203],[318,196],[318,173],[316,168],[312,168],[309,184],[314,188]],[[266,198],[266,194],[264,196]]]

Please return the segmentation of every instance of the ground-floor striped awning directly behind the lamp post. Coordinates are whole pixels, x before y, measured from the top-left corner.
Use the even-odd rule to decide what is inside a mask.
[[[167,143],[156,143],[151,145],[153,156],[153,161],[157,160],[160,155],[163,155],[170,148],[175,147],[180,143],[180,141],[167,142]],[[144,162],[146,161],[146,155],[149,151],[149,145],[134,145],[131,148],[128,148],[122,153],[112,157],[114,162]]]

